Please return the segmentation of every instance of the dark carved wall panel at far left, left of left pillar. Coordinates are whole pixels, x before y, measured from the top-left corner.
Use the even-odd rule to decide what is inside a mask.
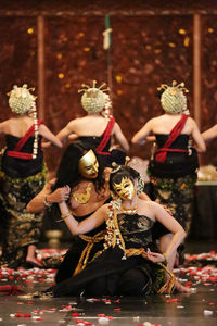
[[[37,87],[37,26],[34,17],[0,20],[1,121],[9,117],[7,92],[13,85]]]

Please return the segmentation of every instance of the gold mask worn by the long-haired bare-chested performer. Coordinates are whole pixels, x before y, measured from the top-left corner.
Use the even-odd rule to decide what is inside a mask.
[[[92,150],[89,150],[80,160],[78,170],[81,176],[88,179],[98,177],[99,163]]]

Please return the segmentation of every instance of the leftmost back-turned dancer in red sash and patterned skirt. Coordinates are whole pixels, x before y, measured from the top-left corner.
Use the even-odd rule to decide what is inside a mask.
[[[41,235],[42,214],[27,213],[26,204],[46,181],[41,138],[62,147],[61,141],[37,118],[36,97],[29,90],[27,85],[14,86],[9,93],[13,116],[0,123],[0,133],[5,135],[7,141],[0,162],[1,264],[13,268],[26,262],[41,266],[35,258],[35,250]]]

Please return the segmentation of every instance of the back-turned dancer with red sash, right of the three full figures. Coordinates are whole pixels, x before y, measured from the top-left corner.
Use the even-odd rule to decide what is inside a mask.
[[[132,137],[132,143],[144,143],[153,134],[157,150],[149,164],[150,181],[153,187],[154,200],[166,205],[173,216],[188,233],[192,217],[192,203],[196,170],[197,152],[206,150],[195,121],[187,115],[187,97],[183,83],[171,86],[162,85],[158,89],[161,104],[165,113],[151,118]],[[196,150],[191,146],[193,139]],[[165,236],[161,241],[164,251],[171,235],[161,225],[156,226],[157,237]],[[165,247],[166,246],[166,247]]]

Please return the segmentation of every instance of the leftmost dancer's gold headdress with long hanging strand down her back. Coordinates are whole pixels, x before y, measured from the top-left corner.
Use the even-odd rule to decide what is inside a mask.
[[[28,114],[34,120],[34,129],[35,129],[35,140],[34,140],[34,149],[33,149],[33,159],[36,159],[38,153],[38,118],[36,112],[36,97],[30,93],[29,90],[35,90],[35,88],[28,88],[27,85],[24,84],[22,87],[17,87],[14,85],[13,89],[8,92],[9,98],[9,106],[12,112],[16,114]]]

